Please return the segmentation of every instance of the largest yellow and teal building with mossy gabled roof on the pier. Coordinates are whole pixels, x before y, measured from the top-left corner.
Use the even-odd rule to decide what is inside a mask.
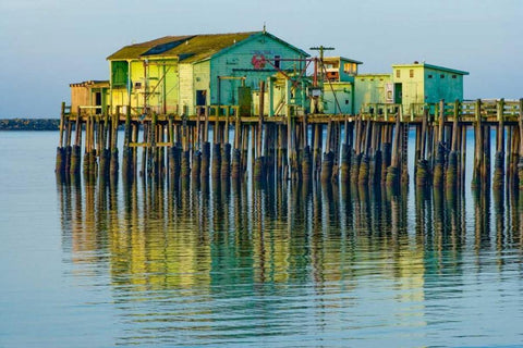
[[[267,32],[167,36],[108,57],[109,104],[195,114],[199,105],[252,105],[260,80],[296,71],[308,57]],[[243,96],[243,97],[242,97]]]

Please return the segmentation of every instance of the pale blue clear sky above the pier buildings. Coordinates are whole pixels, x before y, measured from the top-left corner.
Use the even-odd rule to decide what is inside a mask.
[[[267,29],[308,51],[465,70],[465,98],[522,98],[521,0],[2,0],[0,119],[54,117],[69,84],[107,79],[106,57],[166,35]]]

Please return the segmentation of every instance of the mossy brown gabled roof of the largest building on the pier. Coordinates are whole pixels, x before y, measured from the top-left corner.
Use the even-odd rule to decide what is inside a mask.
[[[198,62],[226,52],[234,46],[245,42],[256,35],[266,35],[291,49],[308,57],[304,51],[266,32],[245,32],[230,34],[203,34],[185,36],[166,36],[156,40],[125,46],[109,55],[108,60],[127,60],[146,58],[177,58],[184,63]]]

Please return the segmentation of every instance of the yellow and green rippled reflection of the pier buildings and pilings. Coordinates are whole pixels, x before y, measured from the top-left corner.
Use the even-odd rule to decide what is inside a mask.
[[[485,252],[521,249],[523,231],[522,199],[503,194],[492,201],[488,192],[417,188],[391,196],[330,183],[253,187],[205,179],[71,183],[60,184],[58,194],[64,251],[86,272],[81,275],[107,270],[114,300],[131,321],[163,313],[161,321],[175,322],[170,306],[181,302],[185,319],[208,318],[227,306],[238,310],[238,298],[290,293],[312,296],[321,316],[356,306],[351,294],[373,279],[390,284],[397,302],[424,303],[462,282],[467,249],[479,272]],[[329,299],[332,294],[344,296]],[[204,299],[230,302],[198,307]],[[250,300],[242,306],[243,314],[256,307]],[[278,306],[264,302],[264,313]],[[431,320],[423,306],[397,320],[413,316],[421,325]]]

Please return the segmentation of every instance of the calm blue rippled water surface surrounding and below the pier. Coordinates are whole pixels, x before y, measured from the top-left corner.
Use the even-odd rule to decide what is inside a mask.
[[[57,136],[0,133],[0,347],[523,345],[523,198],[60,185]]]

